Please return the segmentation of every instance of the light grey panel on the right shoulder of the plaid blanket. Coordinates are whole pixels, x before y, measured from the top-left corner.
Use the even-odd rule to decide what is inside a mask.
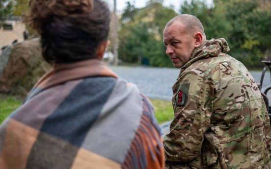
[[[122,164],[139,126],[142,111],[137,87],[128,87],[126,81],[118,80],[82,147]]]

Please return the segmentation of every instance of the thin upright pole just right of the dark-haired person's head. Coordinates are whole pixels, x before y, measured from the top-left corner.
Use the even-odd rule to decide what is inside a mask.
[[[118,66],[118,17],[117,17],[117,8],[116,0],[114,0],[114,66]]]

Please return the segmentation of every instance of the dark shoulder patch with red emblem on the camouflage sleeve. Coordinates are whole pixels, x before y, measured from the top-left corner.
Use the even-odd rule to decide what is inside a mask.
[[[181,83],[177,94],[175,95],[176,106],[185,106],[188,100],[190,83]]]

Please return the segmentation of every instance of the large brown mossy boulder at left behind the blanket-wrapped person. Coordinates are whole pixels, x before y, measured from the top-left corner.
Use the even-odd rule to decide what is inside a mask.
[[[4,48],[0,55],[0,93],[27,95],[51,67],[41,56],[38,38]]]

